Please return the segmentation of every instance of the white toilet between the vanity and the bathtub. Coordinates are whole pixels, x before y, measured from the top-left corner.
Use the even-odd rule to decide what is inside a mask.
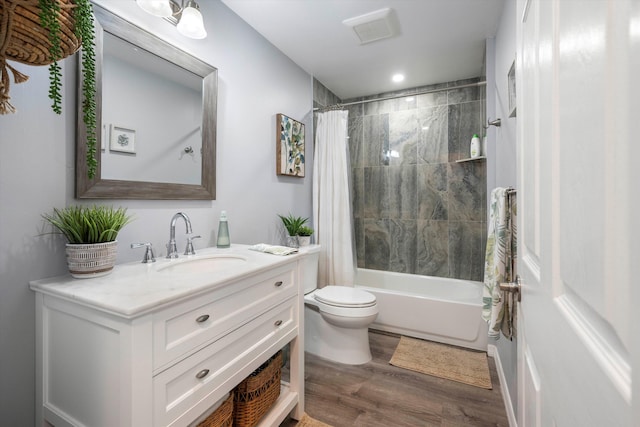
[[[371,360],[368,328],[378,316],[376,297],[348,286],[317,289],[320,246],[308,253],[303,269],[304,349],[324,359],[348,365]]]

